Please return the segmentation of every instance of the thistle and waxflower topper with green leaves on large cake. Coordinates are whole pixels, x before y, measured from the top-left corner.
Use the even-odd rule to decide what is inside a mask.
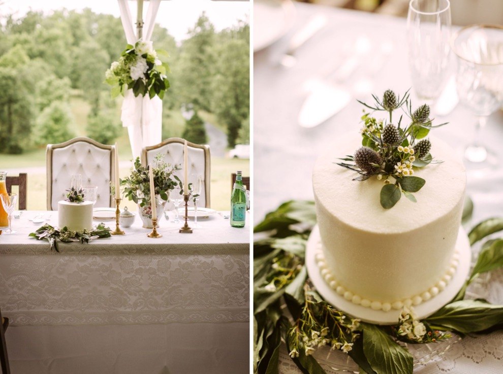
[[[381,189],[381,206],[389,209],[395,206],[402,193],[409,200],[416,202],[413,192],[419,191],[426,181],[414,176],[415,168],[424,167],[433,161],[430,154],[431,143],[425,138],[430,129],[443,126],[442,123],[432,126],[430,108],[424,104],[412,112],[408,101],[408,90],[404,96],[396,96],[392,90],[386,90],[383,99],[372,95],[375,100],[374,106],[369,106],[362,101],[367,109],[372,111],[389,112],[389,122],[376,120],[371,113],[362,116],[364,126],[361,129],[363,137],[362,147],[356,150],[354,155],[341,158],[343,161],[354,163],[337,163],[360,174],[356,181],[365,181],[372,176],[384,182]],[[407,106],[408,104],[408,106]],[[402,117],[397,124],[393,123],[393,111],[407,107],[406,115],[411,122],[407,126],[401,126]],[[420,141],[418,141],[421,139]]]

